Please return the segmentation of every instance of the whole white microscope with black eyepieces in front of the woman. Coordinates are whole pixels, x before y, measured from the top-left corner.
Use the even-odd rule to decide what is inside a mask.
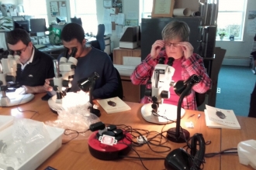
[[[159,59],[151,77],[151,88],[145,90],[145,96],[152,97],[153,104],[144,104],[141,108],[141,114],[150,123],[166,124],[176,120],[175,114],[171,113],[176,111],[177,107],[171,104],[163,104],[163,99],[169,98],[170,95],[169,84],[175,72],[175,68],[171,66],[173,60],[172,57],[169,57],[168,64],[164,64],[164,57]],[[185,110],[182,110],[182,115],[184,114]]]

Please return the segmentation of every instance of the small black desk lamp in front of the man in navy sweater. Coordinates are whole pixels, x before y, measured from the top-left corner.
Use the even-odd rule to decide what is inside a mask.
[[[98,109],[93,108],[93,102],[92,102],[92,92],[95,87],[95,81],[99,78],[98,73],[92,73],[92,76],[89,76],[88,78],[84,78],[81,80],[78,80],[78,87],[83,90],[85,93],[89,92],[89,102],[92,104],[92,107],[90,107],[90,112],[92,114],[95,114],[96,116],[100,117],[101,113]]]

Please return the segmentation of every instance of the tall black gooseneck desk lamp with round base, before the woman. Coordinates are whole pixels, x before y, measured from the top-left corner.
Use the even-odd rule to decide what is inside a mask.
[[[180,97],[178,100],[178,107],[177,107],[177,121],[176,121],[176,128],[170,128],[167,131],[167,138],[170,141],[174,141],[176,143],[183,143],[189,139],[189,131],[182,129],[180,131],[180,124],[181,124],[181,110],[182,110],[182,101],[185,96],[188,96],[191,93],[192,87],[195,83],[199,83],[201,81],[200,76],[193,74],[189,77],[188,80],[179,80],[175,83],[175,93],[177,93]]]

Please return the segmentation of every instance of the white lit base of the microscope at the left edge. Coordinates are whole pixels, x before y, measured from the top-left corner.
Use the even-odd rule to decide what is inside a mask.
[[[0,107],[12,107],[19,104],[26,104],[30,100],[33,100],[34,95],[32,93],[26,93],[26,94],[7,94],[7,97],[2,97],[0,99]]]

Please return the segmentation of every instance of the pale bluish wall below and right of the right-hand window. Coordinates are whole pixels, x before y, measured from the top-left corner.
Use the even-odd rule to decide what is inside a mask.
[[[247,34],[248,12],[255,11],[256,10],[255,7],[256,7],[255,0],[247,0],[247,12],[245,15],[245,24],[244,24],[244,41],[242,42],[216,41],[215,46],[220,46],[223,49],[227,49],[223,64],[249,66],[248,59],[251,53],[251,47],[252,47],[254,36]]]

